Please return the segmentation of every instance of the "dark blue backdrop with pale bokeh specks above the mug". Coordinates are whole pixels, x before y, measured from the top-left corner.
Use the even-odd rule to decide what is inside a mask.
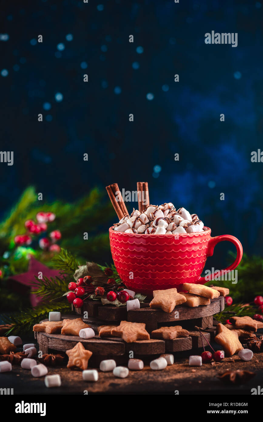
[[[263,163],[250,159],[263,149],[263,5],[22,3],[1,2],[0,32],[9,35],[0,41],[8,70],[0,76],[1,150],[14,151],[13,166],[0,163],[1,216],[29,184],[48,200],[72,201],[94,185],[135,190],[148,181],[150,203],[184,206],[213,235],[235,235],[247,253],[261,253]],[[205,44],[212,30],[237,32],[238,46]],[[40,34],[43,43],[32,45]]]

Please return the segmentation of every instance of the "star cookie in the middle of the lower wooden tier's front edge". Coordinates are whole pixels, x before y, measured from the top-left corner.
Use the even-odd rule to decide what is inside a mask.
[[[118,327],[111,330],[111,335],[121,337],[126,343],[132,343],[136,340],[150,340],[150,335],[145,330],[143,322],[121,321]]]

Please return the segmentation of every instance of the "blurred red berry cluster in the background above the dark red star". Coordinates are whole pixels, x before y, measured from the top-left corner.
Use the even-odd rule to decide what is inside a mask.
[[[27,229],[27,233],[24,235],[17,235],[14,238],[14,242],[16,246],[25,246],[30,245],[32,242],[32,236],[41,235],[43,232],[46,232],[48,229],[48,222],[54,221],[56,218],[55,214],[52,212],[44,212],[40,211],[36,215],[36,220],[27,220],[24,223],[25,228]],[[39,246],[43,250],[49,250],[51,252],[60,252],[60,246],[56,244],[61,238],[61,233],[59,230],[54,230],[49,234],[49,238],[43,237],[39,239]]]

